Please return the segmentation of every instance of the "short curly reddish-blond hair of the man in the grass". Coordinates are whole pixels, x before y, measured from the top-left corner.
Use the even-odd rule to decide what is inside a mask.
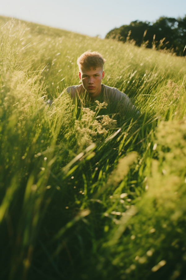
[[[89,70],[93,68],[94,70],[98,67],[103,68],[106,59],[102,57],[100,53],[97,52],[85,52],[77,60],[79,70],[82,68]]]

